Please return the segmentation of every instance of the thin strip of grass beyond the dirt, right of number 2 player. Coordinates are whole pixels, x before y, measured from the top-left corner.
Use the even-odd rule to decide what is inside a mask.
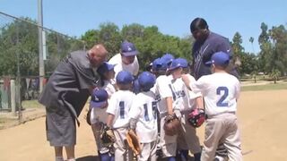
[[[277,90],[277,89],[287,89],[287,83],[277,83],[277,84],[265,84],[265,85],[255,85],[255,86],[242,86],[242,91],[257,91],[257,90]]]

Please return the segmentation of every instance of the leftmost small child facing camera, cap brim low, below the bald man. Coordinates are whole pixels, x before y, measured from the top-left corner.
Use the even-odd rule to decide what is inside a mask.
[[[103,132],[108,114],[106,113],[108,107],[109,94],[105,89],[93,89],[91,94],[91,130],[96,140],[98,155],[101,161],[115,160],[112,152],[112,142],[104,144],[100,140],[100,134]]]

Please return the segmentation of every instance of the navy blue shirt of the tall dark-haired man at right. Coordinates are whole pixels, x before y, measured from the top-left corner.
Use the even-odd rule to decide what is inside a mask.
[[[204,42],[195,42],[194,47],[192,48],[192,56],[193,72],[196,80],[203,75],[211,74],[210,67],[206,66],[205,63],[210,61],[214,53],[220,51],[225,52],[232,57],[232,49],[228,38],[224,38],[216,33],[210,32]],[[232,69],[230,73],[239,78],[239,74],[235,68]]]

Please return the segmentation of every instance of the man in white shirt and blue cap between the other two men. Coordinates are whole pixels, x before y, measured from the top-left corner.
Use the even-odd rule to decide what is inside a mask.
[[[120,53],[109,59],[109,64],[115,64],[116,77],[117,73],[121,71],[130,72],[134,76],[138,74],[139,64],[136,57],[138,53],[133,43],[126,40],[122,42]]]

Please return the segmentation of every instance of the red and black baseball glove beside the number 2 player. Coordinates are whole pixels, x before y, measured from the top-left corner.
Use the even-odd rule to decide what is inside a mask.
[[[205,121],[204,109],[193,109],[191,113],[188,114],[187,121],[195,128],[200,127]]]

